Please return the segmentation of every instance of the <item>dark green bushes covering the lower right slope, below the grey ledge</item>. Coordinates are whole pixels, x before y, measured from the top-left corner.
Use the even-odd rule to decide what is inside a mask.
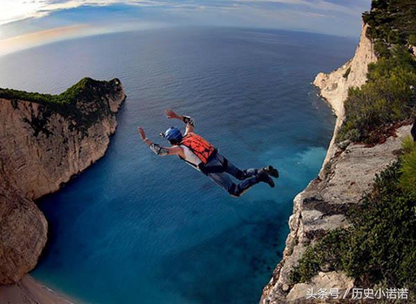
[[[416,287],[416,143],[406,139],[404,152],[351,211],[352,226],[330,231],[306,249],[292,283],[307,282],[325,268],[345,271],[360,287]]]

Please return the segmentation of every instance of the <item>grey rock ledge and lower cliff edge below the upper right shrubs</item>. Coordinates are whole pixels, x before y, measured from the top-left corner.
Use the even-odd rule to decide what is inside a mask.
[[[289,280],[293,267],[311,242],[327,231],[349,225],[345,216],[349,206],[357,204],[363,193],[370,190],[376,173],[397,159],[401,141],[410,134],[410,125],[400,127],[396,133],[397,136],[374,147],[356,143],[333,145],[335,156],[322,168],[321,177],[311,181],[294,199],[284,256],[263,290],[261,303],[285,303],[291,289],[300,288],[298,284],[292,286]]]

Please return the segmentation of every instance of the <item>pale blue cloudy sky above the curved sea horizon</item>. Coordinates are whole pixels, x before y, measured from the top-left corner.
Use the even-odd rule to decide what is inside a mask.
[[[0,55],[73,37],[168,26],[358,37],[370,0],[0,0]]]

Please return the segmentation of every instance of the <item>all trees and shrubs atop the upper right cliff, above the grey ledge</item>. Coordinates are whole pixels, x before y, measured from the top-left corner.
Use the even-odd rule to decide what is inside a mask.
[[[375,144],[392,125],[416,115],[416,61],[408,44],[416,42],[416,1],[373,0],[363,14],[379,60],[369,65],[367,83],[349,90],[338,141]]]

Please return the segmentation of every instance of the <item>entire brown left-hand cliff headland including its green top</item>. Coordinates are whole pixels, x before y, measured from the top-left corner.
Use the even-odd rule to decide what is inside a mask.
[[[46,242],[33,199],[103,156],[124,99],[117,79],[85,78],[60,96],[0,90],[0,284],[33,269]]]

